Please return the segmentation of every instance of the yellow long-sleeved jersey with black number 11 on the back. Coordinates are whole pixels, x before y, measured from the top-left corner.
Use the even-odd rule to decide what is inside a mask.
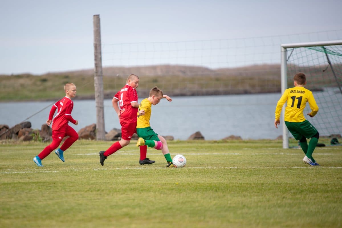
[[[311,116],[315,116],[318,112],[318,106],[316,104],[314,95],[308,89],[302,86],[295,86],[293,88],[286,89],[284,94],[280,97],[277,103],[275,111],[275,119],[280,119],[280,112],[282,106],[287,102],[285,108],[284,120],[288,122],[303,122],[305,117],[303,110],[308,102],[311,108]]]

